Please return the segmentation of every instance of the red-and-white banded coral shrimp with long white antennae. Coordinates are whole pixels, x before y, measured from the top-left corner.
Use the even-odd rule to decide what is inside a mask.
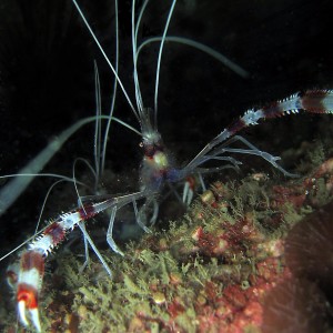
[[[143,2],[139,12],[135,10],[137,6],[135,1],[133,0],[131,38],[133,53],[133,81],[137,104],[134,107],[134,103],[132,103],[129,93],[124,88],[123,81],[119,75],[118,57],[115,57],[115,63],[112,64],[78,2],[75,0],[72,0],[72,2],[78,9],[84,24],[89,30],[90,36],[97,43],[102,57],[107,61],[115,78],[111,114],[108,117],[108,119],[110,122],[112,120],[117,121],[117,118],[113,117],[113,109],[115,105],[114,99],[117,89],[120,87],[140,125],[140,131],[134,131],[141,135],[143,159],[140,168],[140,189],[138,192],[122,195],[103,194],[80,198],[79,208],[70,210],[65,213],[61,213],[58,215],[58,218],[52,220],[43,230],[37,233],[30,242],[28,242],[27,250],[20,253],[19,261],[8,268],[8,282],[16,292],[20,322],[28,326],[29,322],[31,321],[38,332],[42,331],[38,310],[38,299],[44,273],[44,261],[48,254],[61,242],[63,242],[65,235],[75,226],[79,226],[83,234],[84,242],[91,246],[109,275],[112,276],[111,269],[94,245],[89,233],[85,231],[87,220],[92,219],[105,210],[111,211],[110,223],[107,232],[107,242],[114,252],[123,255],[112,236],[117,213],[121,208],[131,204],[133,206],[137,223],[145,232],[150,232],[149,226],[152,225],[158,219],[159,196],[164,186],[170,186],[171,191],[174,192],[184,204],[189,205],[193,198],[193,189],[189,184],[189,178],[199,176],[199,179],[201,179],[201,185],[204,189],[202,174],[219,172],[224,168],[238,169],[241,164],[241,161],[238,160],[236,155],[241,154],[260,157],[273,165],[273,168],[281,171],[285,176],[294,176],[294,174],[287,172],[278,163],[280,160],[279,157],[274,157],[265,151],[260,150],[244,138],[238,135],[238,133],[246,127],[259,124],[261,120],[279,118],[281,115],[297,113],[300,111],[305,113],[321,114],[333,113],[333,92],[330,90],[307,90],[292,94],[284,100],[270,103],[263,108],[248,110],[242,117],[226,127],[205,147],[203,147],[203,149],[186,165],[178,167],[165,148],[162,135],[158,130],[159,75],[165,42],[182,43],[189,48],[203,51],[208,54],[208,57],[213,57],[223,65],[226,65],[230,70],[234,71],[241,77],[246,77],[246,71],[225,59],[225,57],[219,52],[201,44],[200,42],[186,38],[168,36],[168,29],[171,22],[173,9],[176,6],[176,0],[171,1],[162,36],[147,39],[139,44],[138,30],[140,29],[140,22],[144,14],[144,10],[149,4],[149,0]],[[115,14],[118,14],[118,2],[115,1],[114,3]],[[115,22],[115,53],[118,54],[118,18]],[[157,42],[159,43],[159,53],[155,70],[154,105],[153,109],[150,109],[144,105],[140,90],[138,59],[141,50],[145,46]],[[102,117],[97,115],[95,119],[99,120],[102,119]],[[108,130],[104,138],[107,137]],[[107,139],[104,141],[107,142]],[[212,167],[212,162],[214,167]],[[178,183],[183,185],[182,196],[178,195],[178,188],[173,186],[173,184]],[[29,317],[27,317],[27,314]]]

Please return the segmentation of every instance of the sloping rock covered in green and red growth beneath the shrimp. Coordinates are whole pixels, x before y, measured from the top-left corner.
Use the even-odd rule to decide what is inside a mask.
[[[124,258],[105,252],[113,280],[95,260],[78,273],[82,260],[61,254],[43,293],[43,326],[330,332],[331,162],[303,179],[214,182],[182,220],[128,244]]]

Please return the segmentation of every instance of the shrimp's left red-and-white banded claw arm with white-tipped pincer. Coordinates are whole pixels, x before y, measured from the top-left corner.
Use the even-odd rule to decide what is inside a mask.
[[[60,245],[60,243],[64,241],[65,235],[78,225],[109,275],[112,276],[111,269],[94,246],[82,224],[107,209],[111,209],[115,213],[117,210],[121,209],[123,205],[135,202],[145,195],[147,193],[138,192],[122,196],[99,196],[99,202],[83,204],[77,210],[60,214],[28,244],[28,249],[20,254],[19,263],[11,264],[7,272],[8,283],[16,291],[19,319],[24,326],[29,325],[27,319],[28,312],[33,326],[38,332],[41,332],[38,299],[42,287],[44,261],[48,254],[51,253],[54,248]],[[82,201],[91,202],[93,199],[94,196],[82,198]],[[114,216],[114,214],[111,215]],[[110,223],[113,224],[113,221],[110,221]],[[115,252],[119,252],[112,236],[108,242]]]

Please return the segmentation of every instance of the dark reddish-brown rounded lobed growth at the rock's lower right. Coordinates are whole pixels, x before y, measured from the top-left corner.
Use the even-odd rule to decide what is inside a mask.
[[[285,261],[292,276],[265,297],[263,332],[329,332],[333,317],[332,212],[333,202],[289,232]]]

